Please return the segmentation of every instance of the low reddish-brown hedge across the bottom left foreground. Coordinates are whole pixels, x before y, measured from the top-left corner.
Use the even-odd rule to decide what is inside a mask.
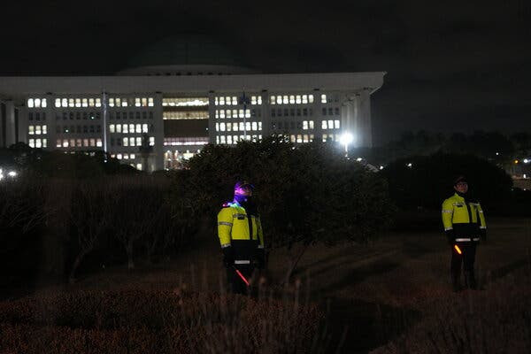
[[[320,319],[312,305],[181,289],[32,296],[0,304],[0,351],[302,353]]]

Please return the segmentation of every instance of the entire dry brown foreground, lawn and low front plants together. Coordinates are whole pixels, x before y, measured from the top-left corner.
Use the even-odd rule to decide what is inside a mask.
[[[61,338],[85,343],[73,352],[531,350],[529,219],[489,219],[489,239],[476,259],[481,290],[458,294],[450,287],[450,250],[438,232],[389,232],[369,245],[315,246],[284,287],[288,253],[274,251],[266,282],[250,299],[224,295],[215,237],[197,244],[176,260],[132,271],[102,265],[76,284],[0,303],[0,352],[24,352],[21,343],[35,336],[56,338],[56,351],[49,352],[61,352]],[[81,297],[82,304],[73,301]],[[179,316],[160,316],[179,306]],[[25,308],[31,310],[26,317],[19,313]],[[76,318],[78,312],[85,317]],[[140,325],[126,326],[131,323]],[[68,329],[58,335],[61,326]],[[187,344],[180,347],[180,341]]]

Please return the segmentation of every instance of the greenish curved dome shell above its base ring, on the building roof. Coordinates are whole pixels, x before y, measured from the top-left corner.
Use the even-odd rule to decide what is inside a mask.
[[[233,51],[203,35],[179,35],[154,42],[127,63],[128,68],[168,65],[247,66]]]

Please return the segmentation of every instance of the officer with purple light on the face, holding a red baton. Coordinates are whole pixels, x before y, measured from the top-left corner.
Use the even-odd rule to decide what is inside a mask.
[[[252,197],[254,186],[247,181],[235,184],[232,202],[223,204],[218,213],[218,235],[223,263],[227,268],[229,289],[245,294],[247,284],[236,273],[250,279],[255,267],[263,268],[266,257],[264,235],[257,206]]]

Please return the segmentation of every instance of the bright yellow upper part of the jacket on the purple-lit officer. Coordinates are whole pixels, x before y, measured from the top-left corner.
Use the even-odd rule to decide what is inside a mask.
[[[233,241],[257,242],[258,248],[264,248],[264,235],[260,217],[247,215],[245,209],[237,203],[228,203],[218,213],[218,236],[221,247],[227,247]]]

